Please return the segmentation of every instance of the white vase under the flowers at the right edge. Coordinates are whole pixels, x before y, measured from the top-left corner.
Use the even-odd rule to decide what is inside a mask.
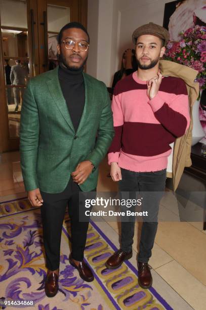
[[[204,137],[204,131],[202,129],[202,126],[199,120],[199,103],[200,103],[200,98],[201,98],[201,92],[202,91],[200,91],[199,100],[196,100],[192,107],[192,121],[193,121],[192,145],[195,145],[197,142],[199,142]]]

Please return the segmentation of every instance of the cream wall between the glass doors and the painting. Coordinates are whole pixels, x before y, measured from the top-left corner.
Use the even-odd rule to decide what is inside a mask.
[[[110,86],[123,51],[134,48],[133,31],[148,22],[162,25],[168,2],[171,0],[88,0],[91,46],[87,72]]]

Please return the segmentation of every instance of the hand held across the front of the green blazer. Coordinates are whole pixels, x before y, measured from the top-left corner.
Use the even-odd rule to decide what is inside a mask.
[[[72,179],[78,185],[83,184],[90,173],[93,170],[92,163],[90,161],[84,161],[77,165],[76,170],[71,173]]]

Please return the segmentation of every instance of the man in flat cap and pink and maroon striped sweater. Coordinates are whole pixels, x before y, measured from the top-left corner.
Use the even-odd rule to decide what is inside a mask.
[[[138,71],[117,83],[112,99],[115,136],[108,153],[110,174],[119,182],[122,196],[125,192],[130,192],[130,198],[132,192],[142,193],[143,210],[149,214],[143,219],[138,253],[142,288],[152,285],[148,261],[172,151],[170,143],[185,134],[190,122],[185,83],[159,71],[159,59],[168,41],[168,31],[153,23],[134,31]],[[132,257],[134,226],[134,218],[122,220],[121,248],[107,260],[107,268],[117,268]]]

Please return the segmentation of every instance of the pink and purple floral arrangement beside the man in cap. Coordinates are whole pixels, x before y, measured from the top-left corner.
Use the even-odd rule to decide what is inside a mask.
[[[206,27],[196,25],[180,32],[180,41],[169,41],[164,59],[178,62],[198,71],[195,82],[206,89]]]

